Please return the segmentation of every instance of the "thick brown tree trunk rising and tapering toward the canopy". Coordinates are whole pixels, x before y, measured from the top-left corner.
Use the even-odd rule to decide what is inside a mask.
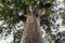
[[[40,18],[32,13],[27,16],[21,43],[42,43]]]

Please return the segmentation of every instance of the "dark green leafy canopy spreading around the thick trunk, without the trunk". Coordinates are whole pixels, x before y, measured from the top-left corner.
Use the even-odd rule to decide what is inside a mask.
[[[55,41],[55,35],[52,34],[52,29],[56,29],[56,32],[58,31],[60,25],[55,25],[55,23],[56,19],[60,18],[60,15],[62,14],[61,11],[63,10],[61,8],[55,10],[54,6],[57,5],[58,4],[56,4],[55,0],[0,0],[0,19],[3,20],[3,24],[0,26],[0,31],[5,31],[5,35],[13,31],[14,43],[20,43],[15,40],[18,38],[18,35],[22,35],[22,31],[20,32],[20,30],[16,29],[16,24],[21,22],[25,24],[27,13],[31,9],[34,13],[40,13],[41,27],[46,31],[46,34],[49,38],[49,42],[52,43],[51,40]],[[60,14],[56,14],[57,12],[60,12]],[[64,18],[64,13],[62,16]],[[6,27],[3,25],[6,25]],[[21,28],[22,25],[20,25],[18,28]]]

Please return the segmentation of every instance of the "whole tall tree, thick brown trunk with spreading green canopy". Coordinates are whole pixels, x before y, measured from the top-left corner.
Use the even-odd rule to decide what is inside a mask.
[[[42,27],[46,33],[52,38],[49,39],[49,43],[52,43],[51,40],[54,40],[55,35],[51,33],[51,27],[57,29],[60,25],[54,24],[60,14],[56,13],[63,10],[54,10],[54,6],[57,6],[55,2],[56,0],[0,0],[0,20],[3,20],[0,31],[8,30],[8,33],[13,31],[13,43],[44,43],[41,34]],[[15,26],[20,22],[24,24],[24,29],[17,30]],[[6,27],[3,27],[4,24]],[[16,30],[17,32],[15,32]],[[15,35],[16,33],[18,37]],[[16,38],[20,39],[18,42],[15,41]]]

